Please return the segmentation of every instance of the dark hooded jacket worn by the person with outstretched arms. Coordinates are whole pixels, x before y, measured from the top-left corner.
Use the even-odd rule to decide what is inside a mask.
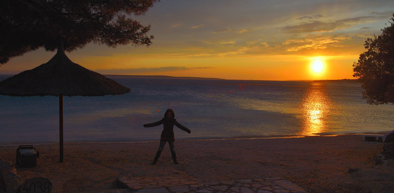
[[[165,114],[166,114],[169,110],[172,112],[172,115],[173,115],[172,118],[166,118],[166,117],[165,117]],[[145,127],[145,128],[150,128],[150,127],[160,126],[160,125],[163,124],[163,128],[164,128],[164,129],[163,129],[163,131],[162,131],[161,140],[164,140],[164,141],[174,141],[174,140],[175,140],[175,137],[174,137],[174,130],[173,130],[173,129],[174,129],[174,125],[175,125],[176,127],[178,127],[179,129],[182,129],[182,130],[184,130],[184,131],[186,131],[186,132],[188,132],[188,133],[191,132],[190,129],[187,129],[185,126],[179,124],[179,123],[176,121],[176,119],[174,119],[174,117],[175,117],[175,115],[174,115],[173,111],[172,111],[171,109],[167,109],[167,111],[165,111],[165,113],[164,113],[164,118],[163,118],[162,120],[160,120],[160,121],[158,121],[158,122],[155,122],[155,123],[145,124],[144,127]]]

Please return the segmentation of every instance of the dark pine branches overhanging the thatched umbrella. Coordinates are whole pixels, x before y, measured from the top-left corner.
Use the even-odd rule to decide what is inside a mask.
[[[151,44],[149,26],[131,19],[158,0],[1,0],[0,63],[44,47],[73,51],[89,42]]]

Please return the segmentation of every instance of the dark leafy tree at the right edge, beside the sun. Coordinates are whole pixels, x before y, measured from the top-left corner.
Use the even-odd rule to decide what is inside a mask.
[[[394,14],[389,23],[381,35],[365,40],[368,50],[353,63],[353,76],[361,80],[362,98],[369,104],[394,103]]]

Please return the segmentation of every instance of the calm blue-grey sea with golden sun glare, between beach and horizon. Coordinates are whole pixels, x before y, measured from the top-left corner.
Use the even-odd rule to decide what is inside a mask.
[[[4,77],[1,77],[1,80]],[[65,97],[65,141],[158,140],[167,108],[176,139],[389,131],[394,106],[368,105],[360,83],[115,77],[120,96]],[[0,96],[0,143],[58,142],[59,99]]]

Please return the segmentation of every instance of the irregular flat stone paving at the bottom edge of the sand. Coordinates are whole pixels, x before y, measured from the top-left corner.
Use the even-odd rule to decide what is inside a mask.
[[[118,180],[134,193],[306,193],[301,187],[281,178],[208,184],[174,177],[122,177]]]

